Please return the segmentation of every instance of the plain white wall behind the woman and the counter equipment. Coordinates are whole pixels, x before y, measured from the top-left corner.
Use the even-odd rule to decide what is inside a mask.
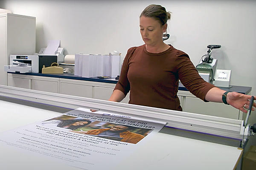
[[[60,39],[65,54],[125,56],[131,46],[142,45],[139,16],[156,1],[118,0],[3,0],[0,8],[36,17],[36,51],[48,40]],[[158,0],[172,11],[166,43],[189,54],[194,65],[208,44],[218,69],[231,69],[232,85],[253,87],[256,95],[256,1],[254,0]]]

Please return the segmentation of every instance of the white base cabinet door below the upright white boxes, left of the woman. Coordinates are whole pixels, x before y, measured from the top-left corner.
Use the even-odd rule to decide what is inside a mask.
[[[60,82],[60,93],[72,96],[93,98],[93,87],[90,85]]]

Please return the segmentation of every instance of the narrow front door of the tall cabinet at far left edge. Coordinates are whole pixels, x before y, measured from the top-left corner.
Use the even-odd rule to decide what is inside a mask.
[[[3,71],[3,66],[9,65],[6,43],[6,17],[4,16],[0,17],[0,85],[7,85],[7,73]]]

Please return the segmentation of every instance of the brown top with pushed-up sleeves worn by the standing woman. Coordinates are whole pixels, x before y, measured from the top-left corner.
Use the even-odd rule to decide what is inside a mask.
[[[183,51],[170,45],[168,50],[154,54],[141,45],[128,49],[114,90],[125,96],[130,91],[130,104],[182,111],[177,96],[179,79],[204,101],[207,92],[215,87],[201,78]]]

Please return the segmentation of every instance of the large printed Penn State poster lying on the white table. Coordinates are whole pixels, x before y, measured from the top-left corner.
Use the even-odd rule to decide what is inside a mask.
[[[0,143],[86,170],[113,169],[163,128],[165,122],[91,112],[79,108],[61,116],[0,133]],[[100,160],[100,162],[98,161]],[[106,166],[108,165],[108,166]]]

